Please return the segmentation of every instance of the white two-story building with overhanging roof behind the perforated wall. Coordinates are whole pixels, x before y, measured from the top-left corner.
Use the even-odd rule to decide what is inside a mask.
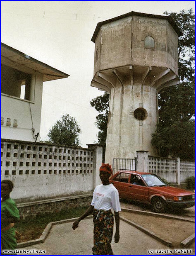
[[[43,82],[68,76],[1,43],[1,139],[38,142]]]

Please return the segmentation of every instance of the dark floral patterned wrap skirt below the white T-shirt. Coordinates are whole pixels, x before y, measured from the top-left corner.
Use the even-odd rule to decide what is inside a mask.
[[[112,241],[114,227],[114,217],[112,211],[94,209],[93,224],[93,255],[114,255],[110,244]]]

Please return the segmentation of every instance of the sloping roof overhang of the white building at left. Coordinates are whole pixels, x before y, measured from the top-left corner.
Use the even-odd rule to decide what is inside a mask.
[[[40,72],[43,74],[43,82],[67,78],[69,75],[53,68],[41,61],[38,61],[21,51],[18,51],[6,44],[1,43],[1,59],[5,63],[11,63],[12,67],[21,67],[23,70],[28,70],[29,73]],[[32,71],[32,72],[31,72]]]

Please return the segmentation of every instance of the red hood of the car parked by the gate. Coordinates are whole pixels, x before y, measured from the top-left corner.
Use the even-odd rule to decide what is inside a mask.
[[[149,187],[150,190],[153,190],[156,193],[165,193],[167,195],[173,195],[173,196],[185,196],[185,195],[193,195],[194,192],[184,190],[181,188],[175,188],[170,186],[163,186],[163,187]]]

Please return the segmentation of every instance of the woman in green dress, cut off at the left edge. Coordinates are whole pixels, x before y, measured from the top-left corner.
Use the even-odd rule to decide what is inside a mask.
[[[1,249],[14,250],[17,247],[14,223],[20,219],[16,203],[10,198],[14,184],[11,180],[1,181]],[[2,255],[17,255],[3,254]]]

